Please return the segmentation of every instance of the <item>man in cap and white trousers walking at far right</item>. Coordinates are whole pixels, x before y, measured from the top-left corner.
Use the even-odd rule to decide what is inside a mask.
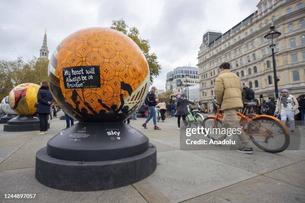
[[[275,113],[281,114],[281,120],[286,123],[288,118],[291,133],[295,133],[295,115],[300,111],[298,109],[299,102],[293,95],[289,95],[288,90],[281,92],[282,96],[278,99]]]

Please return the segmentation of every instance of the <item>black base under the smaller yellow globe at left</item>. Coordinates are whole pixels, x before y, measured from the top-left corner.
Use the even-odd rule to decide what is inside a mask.
[[[50,128],[50,123],[48,123]],[[37,115],[18,115],[7,121],[4,124],[3,131],[7,132],[20,132],[20,131],[32,131],[39,130],[39,118]]]

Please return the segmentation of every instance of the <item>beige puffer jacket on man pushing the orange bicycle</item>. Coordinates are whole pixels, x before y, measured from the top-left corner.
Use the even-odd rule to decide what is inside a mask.
[[[225,69],[215,80],[214,92],[221,109],[242,108],[243,85],[237,75]]]

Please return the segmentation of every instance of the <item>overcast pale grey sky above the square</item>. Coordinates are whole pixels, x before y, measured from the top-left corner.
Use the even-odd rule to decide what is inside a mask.
[[[256,10],[259,0],[1,0],[0,60],[39,57],[44,29],[50,54],[66,36],[123,18],[149,39],[162,67],[154,86],[165,89],[166,73],[196,67],[202,35],[222,33]],[[50,58],[49,54],[49,58]]]

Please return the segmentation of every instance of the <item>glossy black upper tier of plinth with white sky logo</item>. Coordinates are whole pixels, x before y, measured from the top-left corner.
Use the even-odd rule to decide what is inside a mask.
[[[144,153],[149,139],[123,122],[78,122],[47,143],[47,154],[69,161],[106,161]]]

